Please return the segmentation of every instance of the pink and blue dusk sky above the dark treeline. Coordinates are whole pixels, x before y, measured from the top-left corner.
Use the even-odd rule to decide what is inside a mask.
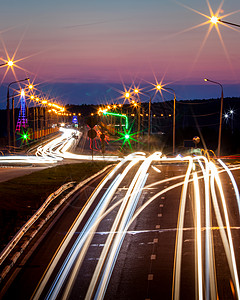
[[[219,33],[213,26],[207,36],[209,9],[215,13],[219,7],[219,17],[240,24],[239,0],[4,1],[0,58],[14,56],[19,68],[16,77],[11,70],[4,77],[6,67],[0,69],[0,107],[7,84],[26,76],[39,89],[54,91],[60,84],[59,96],[67,103],[100,101],[104,89],[94,92],[99,84],[108,90],[133,81],[180,86],[183,100],[218,97],[205,77],[228,86],[227,96],[239,96],[240,28],[218,24]],[[86,93],[93,96],[84,98]]]

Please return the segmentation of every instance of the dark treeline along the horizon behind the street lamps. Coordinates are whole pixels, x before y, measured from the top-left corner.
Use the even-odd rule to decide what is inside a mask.
[[[81,114],[79,123],[92,113],[97,114],[101,106],[93,104],[66,105],[66,111]],[[103,106],[103,108],[106,106]],[[111,111],[127,114],[129,121],[133,125],[132,131],[139,129],[142,135],[148,132],[148,103],[141,103],[140,109],[132,104],[124,104],[121,108],[113,108]],[[230,111],[232,110],[232,113]],[[138,117],[140,114],[140,117]],[[240,98],[224,98],[223,120],[222,120],[222,154],[240,153]],[[18,109],[15,112],[17,122]],[[0,110],[0,138],[6,139],[7,117],[6,110]],[[31,126],[31,108],[29,108],[29,126]],[[220,99],[209,100],[184,100],[176,101],[176,146],[182,147],[184,140],[192,140],[194,136],[201,138],[200,147],[216,150],[218,143],[220,120]],[[71,121],[71,118],[68,118]],[[12,120],[11,120],[12,122]],[[115,120],[117,124],[117,120]],[[151,106],[151,128],[152,135],[159,137],[164,147],[172,144],[173,128],[173,101],[153,102]]]

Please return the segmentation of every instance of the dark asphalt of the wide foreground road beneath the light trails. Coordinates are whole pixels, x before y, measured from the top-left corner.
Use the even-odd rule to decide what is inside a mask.
[[[118,174],[123,174],[127,164],[123,165],[101,188],[91,208],[69,239],[62,255],[56,260],[53,272],[48,280],[42,283],[40,299],[45,299],[55,278],[61,277],[61,274],[58,276],[57,274],[69,251],[77,238],[83,234],[91,220],[90,216],[101,209],[103,195],[110,197],[111,192],[113,194],[104,210],[108,213],[96,214],[94,222],[97,223],[93,223],[87,235],[80,239],[80,243],[83,241],[86,248],[84,246],[79,248],[73,265],[69,267],[71,272],[66,275],[67,281],[60,281],[57,299],[62,299],[64,293],[67,293],[69,299],[101,299],[101,297],[104,299],[171,299],[172,297],[207,299],[205,295],[209,295],[208,297],[211,295],[211,299],[237,298],[236,283],[234,283],[236,277],[233,274],[235,271],[239,274],[240,271],[239,208],[228,175],[221,173],[220,178],[231,225],[230,232],[236,260],[235,271],[234,263],[231,262],[231,239],[228,235],[226,216],[224,217],[224,205],[220,200],[218,205],[212,200],[211,227],[210,231],[207,231],[207,202],[202,200],[205,195],[204,181],[203,179],[198,181],[200,200],[195,202],[197,192],[193,173],[189,177],[190,182],[184,200],[182,187],[188,169],[187,162],[150,163],[150,167],[147,168],[148,176],[142,179],[143,184],[136,190],[132,189],[128,198],[130,200],[123,206],[141,164],[142,161],[139,161],[129,169],[116,190],[114,190],[116,182],[113,184],[113,181],[118,178]],[[143,173],[144,170],[141,170],[140,174]],[[195,173],[199,177],[202,176],[200,167]],[[240,182],[240,171],[235,170],[233,174],[237,183]],[[39,280],[43,279],[42,276],[54,253],[61,252],[61,248],[58,248],[60,243],[67,236],[66,233],[96,184],[97,181],[83,189],[64,209],[51,228],[42,233],[41,241],[30,258],[18,264],[19,272],[14,280],[12,277],[12,283],[3,299],[31,298]],[[138,195],[136,191],[141,193]],[[153,196],[158,193],[159,196],[153,199]],[[135,196],[131,200],[132,195]],[[214,198],[214,195],[211,195]],[[216,197],[220,199],[219,190],[216,191]],[[182,213],[183,203],[185,207]],[[135,213],[143,207],[145,208],[135,218]],[[220,219],[224,223],[223,226],[220,226],[219,215],[222,216]],[[179,223],[182,217],[184,219],[181,229]],[[95,225],[96,228],[93,229]],[[207,256],[208,252],[205,251],[207,232],[211,234],[212,251],[209,253],[213,254],[210,255],[213,258],[212,263]],[[178,239],[181,234],[182,240]],[[79,244],[76,247],[80,247]],[[178,254],[181,258],[180,262]],[[63,270],[67,268],[66,262]],[[211,276],[212,270],[215,271],[214,276]],[[45,278],[47,274],[46,272]],[[51,295],[47,299],[55,298],[53,294]]]

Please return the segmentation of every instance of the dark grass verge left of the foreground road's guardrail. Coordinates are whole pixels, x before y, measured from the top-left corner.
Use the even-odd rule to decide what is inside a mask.
[[[51,193],[69,181],[83,181],[106,165],[60,165],[0,183],[0,251]]]

